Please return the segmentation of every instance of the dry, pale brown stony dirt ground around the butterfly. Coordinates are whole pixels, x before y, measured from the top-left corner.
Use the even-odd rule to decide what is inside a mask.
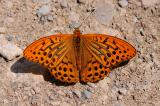
[[[160,106],[159,2],[0,0],[0,48],[8,42],[7,49],[18,49],[0,50],[0,106]],[[127,65],[98,83],[67,85],[23,58],[21,51],[31,42],[73,33],[93,9],[82,33],[110,34],[131,43],[137,55]]]

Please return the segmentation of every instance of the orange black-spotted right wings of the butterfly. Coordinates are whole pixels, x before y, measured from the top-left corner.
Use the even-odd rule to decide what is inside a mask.
[[[135,48],[124,40],[102,34],[81,37],[82,82],[97,82],[111,69],[126,64],[136,54]]]

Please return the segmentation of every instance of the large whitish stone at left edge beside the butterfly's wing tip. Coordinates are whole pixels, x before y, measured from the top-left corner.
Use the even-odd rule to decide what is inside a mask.
[[[7,60],[12,60],[22,54],[22,50],[16,45],[8,42],[4,38],[0,38],[0,55]]]

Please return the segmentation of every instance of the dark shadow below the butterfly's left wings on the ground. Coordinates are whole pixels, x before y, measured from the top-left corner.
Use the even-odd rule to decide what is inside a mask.
[[[68,86],[72,84],[66,84],[59,82],[54,79],[54,77],[49,73],[49,71],[42,66],[27,61],[25,58],[20,58],[17,60],[12,66],[11,71],[14,73],[32,73],[35,75],[42,75],[45,81],[49,81],[52,84],[56,84],[58,86]]]

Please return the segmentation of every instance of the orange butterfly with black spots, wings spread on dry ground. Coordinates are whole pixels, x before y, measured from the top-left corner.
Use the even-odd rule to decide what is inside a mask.
[[[30,44],[26,59],[49,70],[61,82],[97,82],[129,62],[136,49],[126,41],[104,34],[55,34]]]

